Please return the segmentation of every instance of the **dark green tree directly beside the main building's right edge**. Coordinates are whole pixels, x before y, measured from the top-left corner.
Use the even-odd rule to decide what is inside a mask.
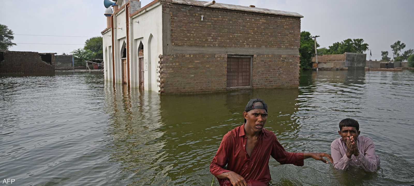
[[[316,43],[318,48],[318,43]],[[312,57],[315,56],[315,43],[310,32],[301,32],[301,47],[299,48],[301,69],[312,69]]]

